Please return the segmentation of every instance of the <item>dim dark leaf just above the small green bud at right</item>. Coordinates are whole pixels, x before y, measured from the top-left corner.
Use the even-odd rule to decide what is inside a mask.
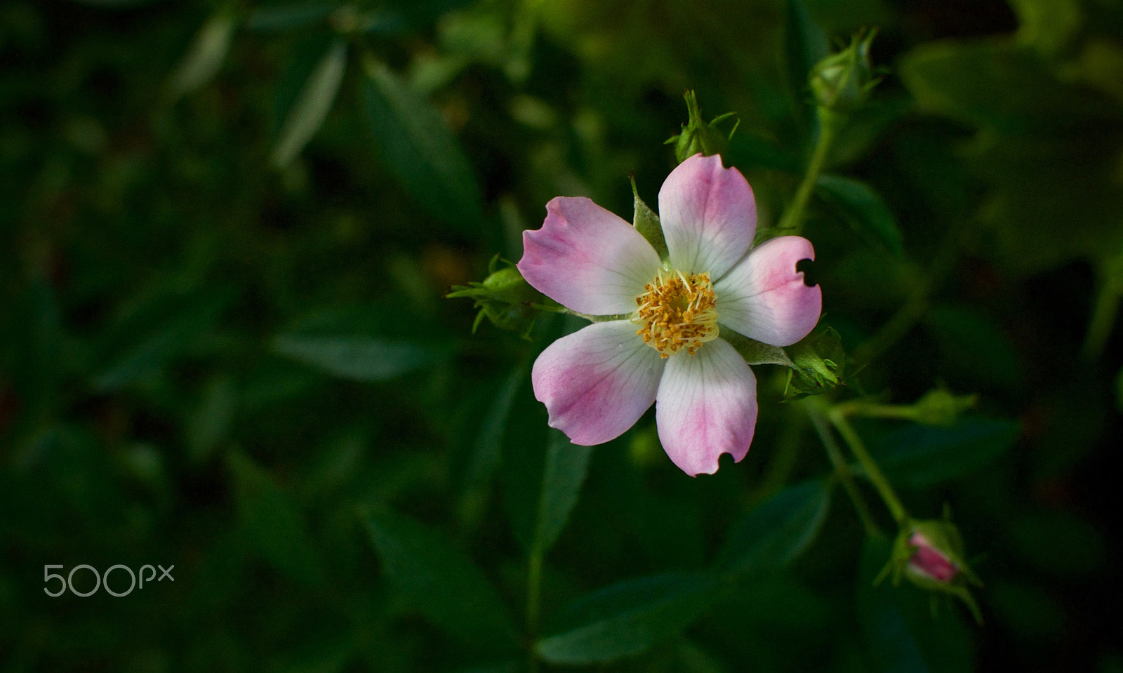
[[[946,367],[970,381],[1016,388],[1022,365],[1014,344],[989,316],[961,306],[929,309],[923,325],[935,338]]]

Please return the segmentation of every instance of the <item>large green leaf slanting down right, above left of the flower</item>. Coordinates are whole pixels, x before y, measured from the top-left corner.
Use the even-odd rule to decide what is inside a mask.
[[[367,75],[364,110],[382,164],[432,216],[463,233],[478,231],[480,187],[440,112],[384,64],[371,65]]]

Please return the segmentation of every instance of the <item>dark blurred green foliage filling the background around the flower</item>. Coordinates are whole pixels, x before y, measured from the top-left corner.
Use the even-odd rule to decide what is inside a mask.
[[[951,504],[982,628],[873,584],[891,537],[786,367],[690,479],[651,412],[547,427],[530,363],[581,321],[473,337],[441,299],[555,195],[656,203],[687,88],[774,226],[864,26],[888,72],[810,202],[804,388],[978,393],[855,426]],[[3,671],[1120,669],[1117,2],[6,0],[0,64]],[[174,581],[52,598],[48,564]]]

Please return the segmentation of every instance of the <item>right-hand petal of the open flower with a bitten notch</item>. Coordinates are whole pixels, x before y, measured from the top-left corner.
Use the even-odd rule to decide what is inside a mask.
[[[791,346],[807,336],[823,308],[819,285],[803,284],[800,260],[814,260],[815,248],[801,236],[765,242],[714,283],[718,320],[733,331],[773,346]]]

